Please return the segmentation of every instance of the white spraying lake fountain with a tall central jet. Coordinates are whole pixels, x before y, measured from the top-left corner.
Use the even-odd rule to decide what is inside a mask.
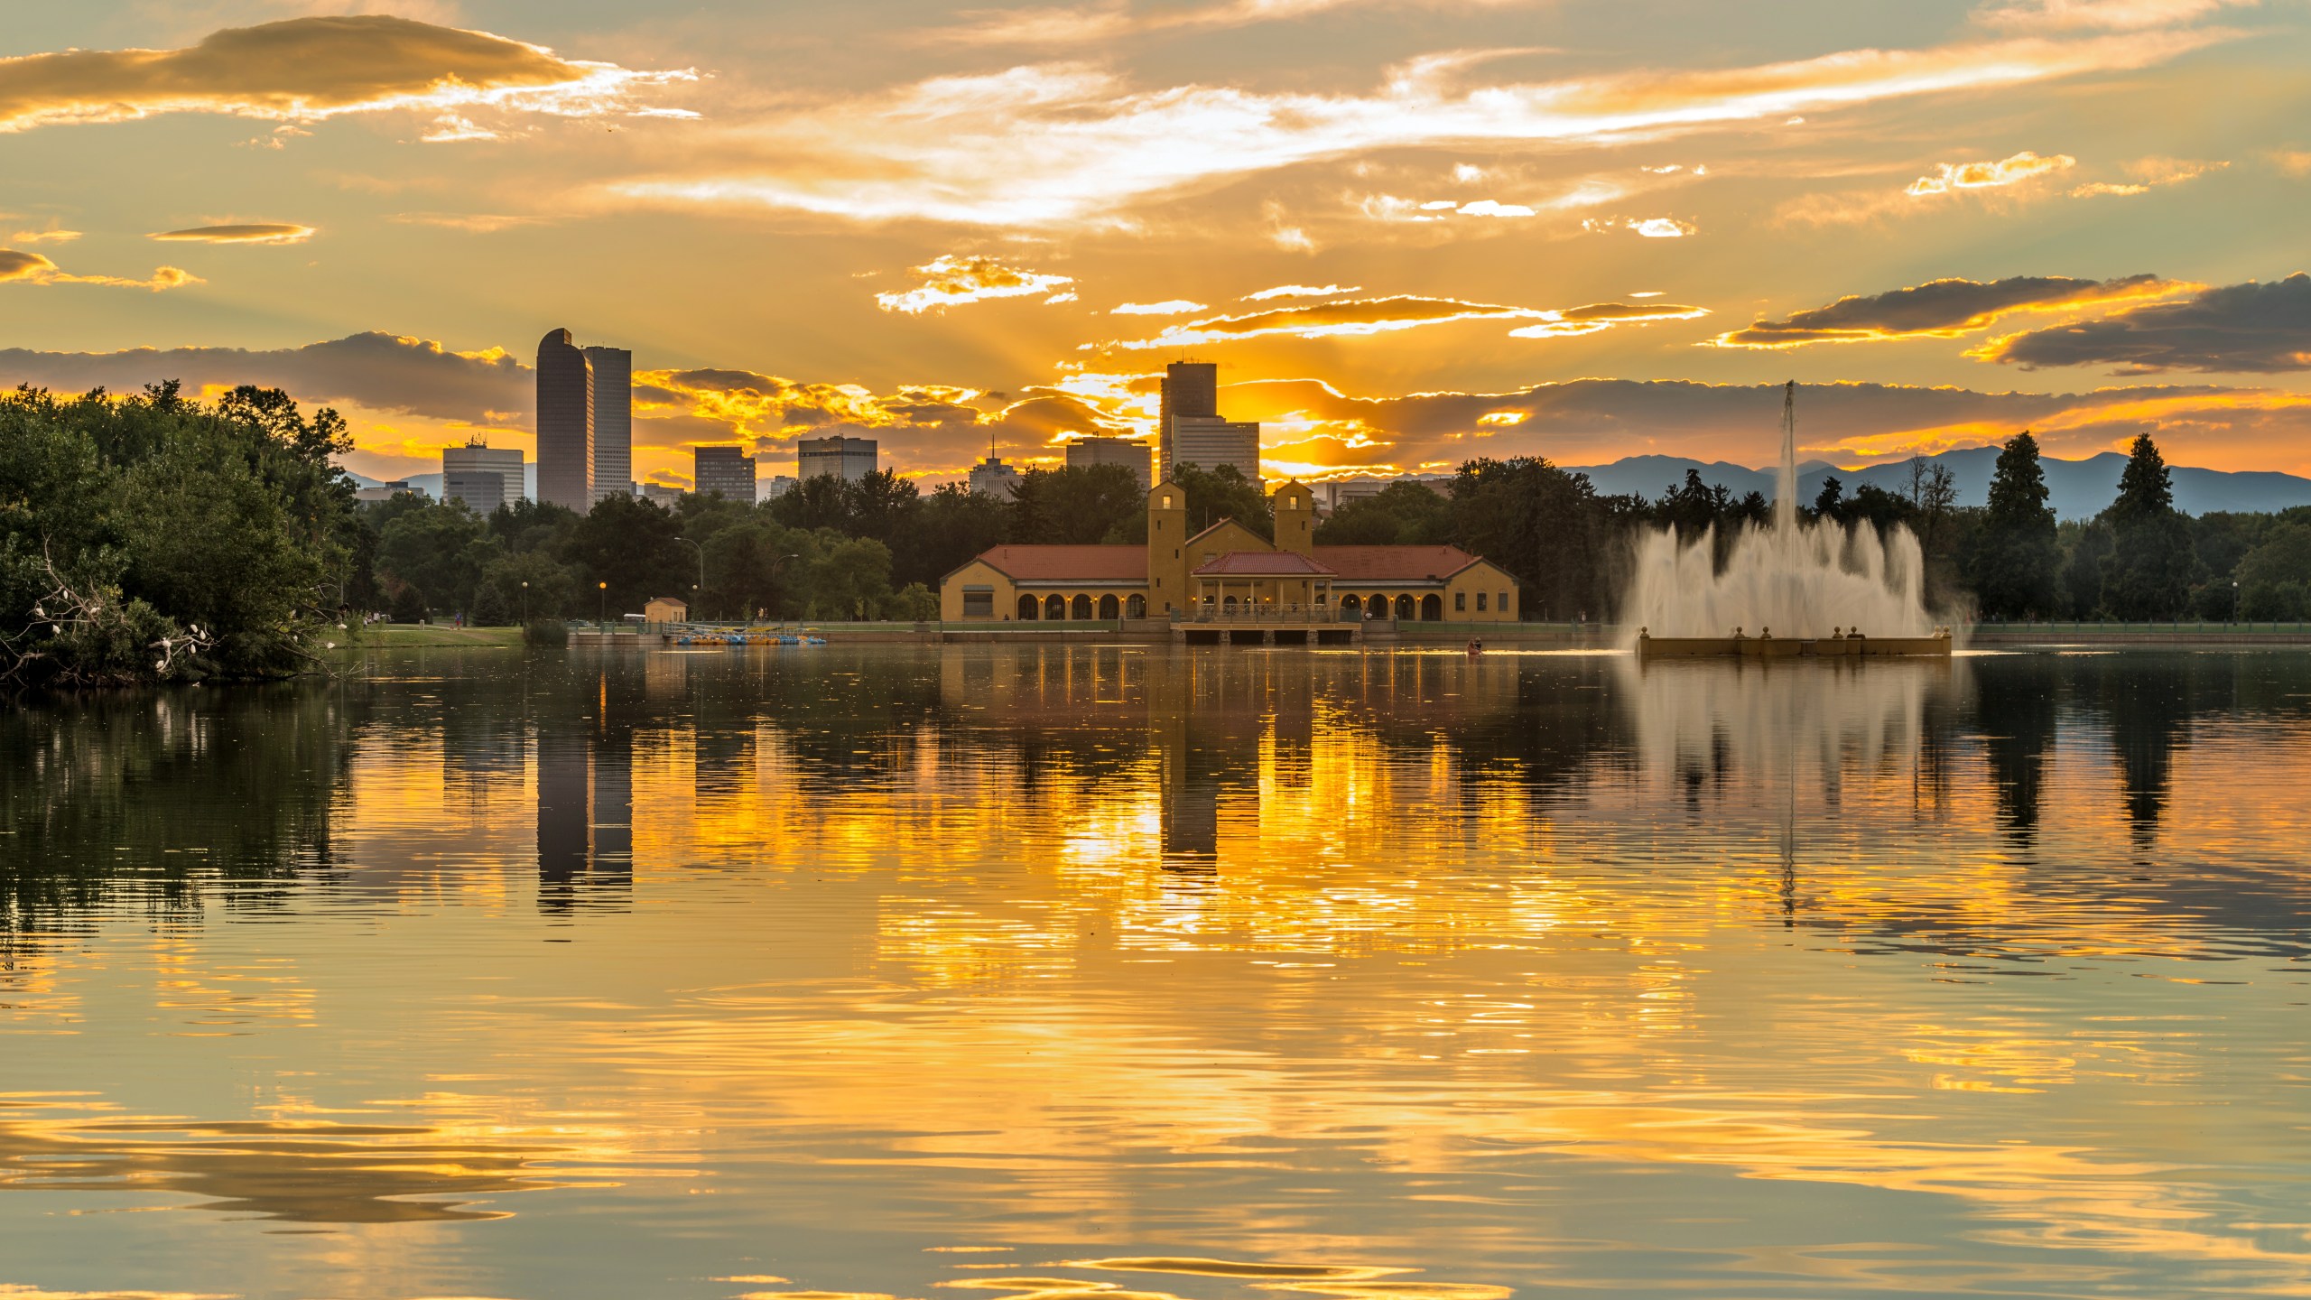
[[[1948,655],[1925,608],[1925,553],[1907,527],[1798,518],[1798,384],[1782,389],[1773,525],[1745,527],[1717,564],[1715,530],[1636,548],[1622,627],[1638,657]]]

